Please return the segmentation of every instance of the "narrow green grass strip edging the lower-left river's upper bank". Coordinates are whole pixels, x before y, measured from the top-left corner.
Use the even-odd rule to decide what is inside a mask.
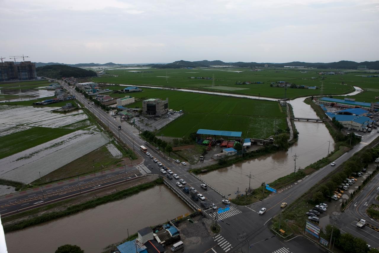
[[[103,196],[103,197],[92,199],[90,201],[87,201],[87,202],[84,202],[81,204],[70,206],[66,210],[63,210],[63,211],[44,213],[38,217],[34,217],[34,218],[31,218],[28,220],[23,220],[23,221],[20,221],[18,223],[11,224],[11,225],[5,225],[4,226],[4,232],[11,232],[11,231],[27,228],[29,226],[38,225],[38,224],[41,224],[41,223],[44,223],[47,221],[51,221],[51,220],[54,220],[57,218],[65,217],[67,215],[72,215],[74,213],[81,212],[81,211],[86,210],[86,209],[94,208],[96,206],[106,204],[106,203],[111,202],[111,201],[117,201],[120,199],[124,199],[128,196],[139,193],[140,191],[147,190],[149,188],[152,188],[156,185],[160,185],[162,183],[163,183],[162,179],[156,179],[156,180],[149,182],[149,183],[143,183],[141,185],[137,185],[135,187],[131,187],[131,188],[128,188],[128,189],[125,189],[125,190],[122,190],[122,191],[119,191],[116,193],[112,193],[112,194],[107,195],[107,196]]]

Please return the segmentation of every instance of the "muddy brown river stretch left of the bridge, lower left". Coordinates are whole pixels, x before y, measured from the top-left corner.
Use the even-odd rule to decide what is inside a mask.
[[[127,229],[133,234],[188,212],[192,210],[161,185],[120,201],[7,233],[5,239],[9,253],[55,252],[64,244],[76,244],[85,252],[96,253],[128,237]]]

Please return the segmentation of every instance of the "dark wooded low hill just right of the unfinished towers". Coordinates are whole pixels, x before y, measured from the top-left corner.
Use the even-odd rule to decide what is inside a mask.
[[[92,70],[83,70],[82,68],[59,64],[38,67],[36,70],[37,76],[46,76],[50,78],[97,76]]]

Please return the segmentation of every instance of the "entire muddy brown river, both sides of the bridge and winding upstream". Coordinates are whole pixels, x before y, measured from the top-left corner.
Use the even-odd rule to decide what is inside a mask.
[[[215,94],[215,92],[198,92]],[[349,95],[357,93],[359,92],[352,92]],[[218,93],[218,95],[230,94]],[[251,96],[232,95],[251,98]],[[289,101],[294,115],[317,118],[313,109],[303,101],[304,98]],[[325,157],[328,148],[334,149],[333,138],[323,123],[295,121],[295,126],[299,131],[299,139],[287,151],[233,164],[228,168],[203,174],[201,177],[222,193],[231,194],[230,197],[233,198],[235,196],[233,193],[237,191],[237,188],[243,191],[244,188],[249,187],[247,177],[249,173],[252,175],[251,187],[256,188],[262,182],[272,182],[293,172],[295,154],[298,156],[296,169],[299,169]],[[54,252],[56,248],[64,244],[76,244],[86,252],[100,252],[106,245],[126,238],[127,229],[129,229],[129,234],[133,234],[145,226],[157,225],[187,212],[191,212],[191,209],[171,190],[161,185],[120,201],[7,233],[5,237],[9,253]]]

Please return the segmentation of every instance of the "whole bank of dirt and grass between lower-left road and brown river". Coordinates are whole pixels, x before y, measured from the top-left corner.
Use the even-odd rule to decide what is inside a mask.
[[[16,231],[46,221],[72,215],[108,202],[132,196],[133,194],[147,190],[156,185],[161,185],[162,183],[163,180],[159,179],[158,176],[148,176],[132,182],[106,188],[104,190],[84,194],[75,198],[4,217],[2,218],[4,232]]]

